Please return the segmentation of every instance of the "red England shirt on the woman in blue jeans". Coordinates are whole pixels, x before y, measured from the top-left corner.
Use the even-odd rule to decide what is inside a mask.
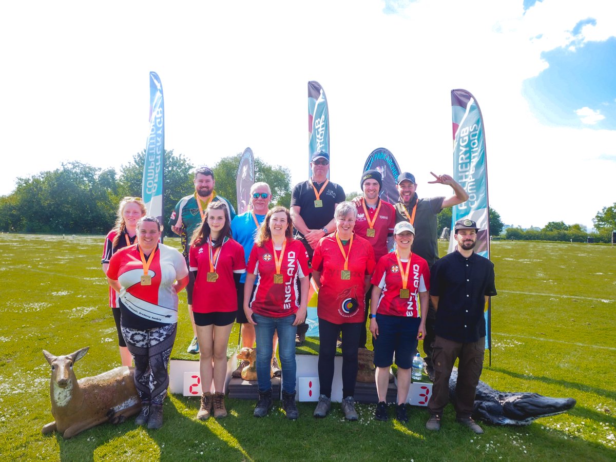
[[[281,249],[276,249],[280,258]],[[272,241],[265,242],[262,247],[253,246],[248,257],[249,273],[259,276],[257,288],[250,308],[261,316],[272,318],[295,314],[299,308],[297,279],[306,277],[312,271],[308,266],[308,254],[304,245],[294,239],[286,240],[285,254],[282,256],[280,274],[282,284],[274,283],[276,263],[274,261],[274,246]]]

